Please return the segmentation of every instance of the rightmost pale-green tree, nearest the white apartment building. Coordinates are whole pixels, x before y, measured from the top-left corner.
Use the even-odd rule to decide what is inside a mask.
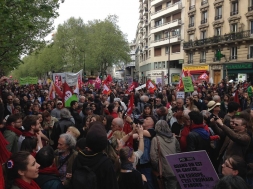
[[[116,15],[110,15],[103,21],[88,22],[86,62],[89,69],[98,69],[104,74],[104,70],[113,64],[131,62],[126,36],[117,22]]]

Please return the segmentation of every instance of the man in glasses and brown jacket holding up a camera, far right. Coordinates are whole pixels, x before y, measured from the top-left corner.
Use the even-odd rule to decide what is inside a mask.
[[[211,120],[211,121],[214,121]],[[231,129],[224,125],[221,119],[217,119],[215,124],[215,132],[225,141],[220,149],[218,159],[222,164],[227,157],[236,155],[245,159],[246,151],[250,144],[251,138],[247,133],[247,122],[244,118],[236,116],[231,124]]]

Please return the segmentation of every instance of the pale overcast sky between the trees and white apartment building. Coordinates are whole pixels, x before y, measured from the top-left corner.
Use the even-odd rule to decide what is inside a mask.
[[[135,38],[139,18],[138,0],[65,0],[60,5],[60,16],[55,19],[55,29],[59,24],[64,23],[70,17],[81,17],[84,22],[93,19],[101,19],[109,14],[116,14],[119,17],[118,25],[124,34],[127,34],[128,41]]]

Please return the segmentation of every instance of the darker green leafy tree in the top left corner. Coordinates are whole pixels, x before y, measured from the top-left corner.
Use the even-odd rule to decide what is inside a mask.
[[[5,0],[0,2],[0,65],[16,67],[21,55],[44,44],[58,16],[58,0]]]

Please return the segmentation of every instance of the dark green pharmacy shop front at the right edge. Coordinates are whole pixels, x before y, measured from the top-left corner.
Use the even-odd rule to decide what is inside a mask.
[[[234,63],[223,66],[223,76],[236,82],[253,81],[253,63]]]

